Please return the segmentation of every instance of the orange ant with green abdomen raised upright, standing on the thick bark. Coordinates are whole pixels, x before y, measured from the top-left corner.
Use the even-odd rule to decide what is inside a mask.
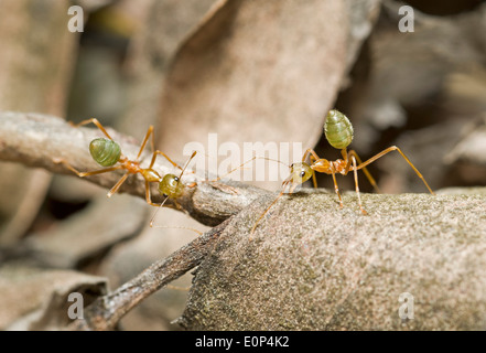
[[[307,149],[304,156],[302,157],[302,162],[293,163],[292,165],[290,165],[290,175],[283,181],[282,191],[277,196],[277,199],[270,204],[270,206],[268,206],[267,210],[264,210],[263,213],[260,215],[260,217],[257,220],[253,227],[251,228],[250,234],[253,234],[260,221],[268,213],[271,206],[273,206],[273,204],[284,194],[287,188],[289,188],[289,193],[291,194],[294,192],[298,185],[304,183],[311,178],[314,183],[314,188],[317,188],[317,183],[315,180],[315,172],[326,173],[333,176],[334,190],[339,200],[339,206],[341,208],[343,208],[343,199],[341,197],[339,189],[337,186],[336,174],[341,173],[343,175],[347,175],[347,173],[350,170],[353,170],[355,178],[356,194],[358,196],[358,205],[361,213],[366,215],[367,212],[365,211],[365,208],[363,208],[361,196],[359,194],[357,172],[358,170],[363,170],[363,172],[365,173],[371,185],[375,188],[375,190],[379,192],[375,179],[367,171],[366,165],[372,163],[377,159],[384,157],[385,154],[391,151],[398,151],[401,154],[401,157],[403,157],[403,159],[407,161],[407,163],[409,163],[409,165],[413,169],[417,175],[423,181],[430,193],[434,194],[434,192],[432,191],[432,189],[430,189],[429,184],[426,183],[422,174],[419,172],[419,170],[412,164],[412,162],[408,159],[408,157],[397,146],[391,146],[385,149],[384,151],[377,153],[376,156],[371,157],[365,162],[361,162],[356,151],[354,150],[347,151],[347,147],[353,141],[354,131],[353,131],[353,125],[344,114],[335,109],[330,110],[328,114],[326,115],[324,122],[324,133],[326,140],[330,142],[332,147],[336,149],[341,149],[341,154],[343,156],[343,159],[330,161],[320,158],[313,149]],[[310,158],[311,164],[307,164],[305,162],[307,158]]]

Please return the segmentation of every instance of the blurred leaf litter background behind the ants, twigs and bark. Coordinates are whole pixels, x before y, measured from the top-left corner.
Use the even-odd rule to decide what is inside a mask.
[[[83,32],[67,29],[72,6]],[[414,9],[413,32],[399,30],[402,6]],[[2,0],[0,17],[0,110],[96,117],[139,140],[152,124],[156,148],[183,163],[185,143],[210,132],[239,146],[301,142],[335,160],[323,121],[337,108],[363,160],[396,145],[433,190],[486,184],[483,1]],[[50,285],[65,282],[60,270],[114,289],[197,236],[148,229],[154,210],[143,200],[108,200],[78,178],[0,170],[0,329],[55,327],[45,308],[65,288]],[[369,170],[385,193],[426,192],[397,152]],[[338,183],[354,188],[352,176]],[[156,223],[207,229],[165,208]],[[106,290],[98,285],[86,290]],[[185,298],[163,289],[120,329],[177,330]]]

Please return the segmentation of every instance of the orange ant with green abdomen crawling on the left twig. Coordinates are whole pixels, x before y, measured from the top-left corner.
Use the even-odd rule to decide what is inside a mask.
[[[123,184],[123,182],[127,180],[127,178],[130,174],[137,174],[140,173],[144,181],[145,181],[145,201],[148,204],[152,206],[159,206],[159,204],[153,203],[151,195],[150,195],[150,183],[158,182],[159,183],[159,190],[161,188],[168,192],[168,194],[172,195],[172,197],[177,197],[182,193],[182,186],[176,185],[175,189],[171,190],[174,184],[174,180],[172,174],[166,174],[164,178],[162,178],[154,169],[153,164],[155,163],[155,159],[159,154],[162,154],[165,157],[165,159],[171,162],[172,165],[183,170],[177,163],[172,161],[169,156],[166,156],[164,152],[154,150],[154,142],[153,142],[153,126],[150,126],[147,130],[145,137],[142,141],[142,145],[140,146],[139,153],[137,154],[136,160],[130,160],[127,157],[125,157],[121,153],[120,145],[118,145],[111,136],[108,133],[108,131],[105,129],[105,127],[98,121],[96,118],[84,120],[77,125],[74,125],[75,127],[80,127],[83,125],[94,124],[98,127],[99,130],[107,137],[107,138],[97,138],[94,139],[89,143],[89,152],[93,157],[93,159],[100,164],[101,167],[108,167],[101,170],[90,171],[90,172],[79,172],[75,168],[73,168],[66,160],[56,158],[54,159],[54,162],[56,163],[63,163],[67,169],[76,173],[79,178],[95,175],[95,174],[101,174],[106,172],[110,172],[114,170],[126,170],[127,172],[123,174],[123,176],[120,178],[120,180],[115,184],[115,186],[111,188],[111,190],[108,192],[107,196],[111,197],[112,194],[115,194]],[[149,168],[141,168],[140,167],[140,157],[142,156],[143,150],[145,149],[147,142],[150,139],[150,145],[152,148],[152,160],[150,161]],[[115,165],[119,163],[118,165]],[[175,176],[176,178],[176,176]]]

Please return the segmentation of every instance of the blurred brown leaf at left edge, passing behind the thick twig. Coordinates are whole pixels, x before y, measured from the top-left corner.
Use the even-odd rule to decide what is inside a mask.
[[[0,13],[8,14],[0,22],[0,110],[64,115],[77,41],[67,31],[67,7],[61,1],[0,2]],[[35,216],[50,176],[17,165],[0,169],[0,184],[11,185],[1,189],[0,223],[8,231],[3,240],[12,243]]]

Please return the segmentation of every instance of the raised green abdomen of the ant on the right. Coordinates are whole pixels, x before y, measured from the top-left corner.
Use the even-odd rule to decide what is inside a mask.
[[[324,122],[324,133],[330,145],[341,150],[353,141],[353,125],[343,113],[330,110]]]

